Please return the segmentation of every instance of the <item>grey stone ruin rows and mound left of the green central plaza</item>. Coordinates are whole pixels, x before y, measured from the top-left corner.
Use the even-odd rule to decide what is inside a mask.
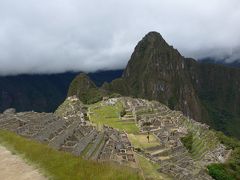
[[[85,159],[117,159],[121,162],[122,158],[124,163],[124,157],[128,155],[129,162],[135,167],[133,151],[126,133],[106,126],[99,131],[85,118],[83,104],[77,98],[68,98],[55,114],[5,112],[0,116],[0,128],[46,143],[57,150],[83,156]],[[117,142],[121,142],[121,147],[109,151],[108,146],[115,147]]]

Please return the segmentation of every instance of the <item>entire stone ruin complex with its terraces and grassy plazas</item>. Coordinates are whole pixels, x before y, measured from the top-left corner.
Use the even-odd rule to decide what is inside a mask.
[[[207,165],[231,153],[207,125],[129,97],[91,105],[69,97],[54,114],[10,109],[0,115],[0,128],[85,159],[129,166],[145,179],[212,179]]]

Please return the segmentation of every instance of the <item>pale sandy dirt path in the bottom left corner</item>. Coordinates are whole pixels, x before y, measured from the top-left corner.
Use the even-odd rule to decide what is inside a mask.
[[[0,179],[1,180],[46,180],[19,156],[11,154],[0,145]]]

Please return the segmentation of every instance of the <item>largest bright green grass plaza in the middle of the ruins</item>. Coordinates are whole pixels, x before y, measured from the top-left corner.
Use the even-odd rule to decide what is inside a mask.
[[[100,125],[108,125],[110,127],[126,131],[127,133],[138,133],[139,129],[135,122],[124,121],[120,119],[122,104],[116,103],[114,106],[94,104],[90,106],[90,121]]]

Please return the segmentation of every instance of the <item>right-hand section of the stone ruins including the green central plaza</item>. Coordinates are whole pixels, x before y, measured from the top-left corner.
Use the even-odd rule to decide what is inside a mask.
[[[105,124],[125,130],[135,153],[157,164],[160,176],[211,179],[206,166],[224,162],[231,152],[220,144],[207,125],[155,101],[127,97],[106,99],[91,105],[88,114],[90,121],[98,126]],[[192,134],[191,150],[181,141],[189,133]]]

